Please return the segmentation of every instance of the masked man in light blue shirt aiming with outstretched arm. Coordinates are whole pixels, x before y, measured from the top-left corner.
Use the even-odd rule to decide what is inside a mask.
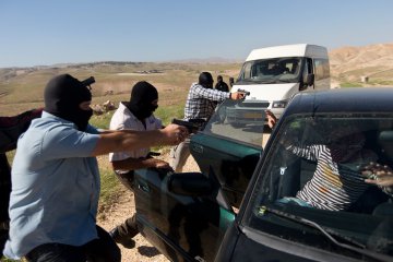
[[[120,261],[96,225],[99,172],[95,156],[177,144],[187,129],[103,131],[88,124],[92,94],[69,74],[51,79],[41,118],[21,135],[12,166],[10,236],[4,254],[28,261]]]

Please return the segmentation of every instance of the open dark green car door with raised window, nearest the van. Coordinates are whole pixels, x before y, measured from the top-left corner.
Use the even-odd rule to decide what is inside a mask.
[[[262,153],[264,131],[264,121],[251,123],[250,119],[242,128],[227,121],[226,112],[238,103],[225,100],[218,105],[205,128],[190,142],[201,171],[217,178],[228,204],[235,207],[239,207]]]

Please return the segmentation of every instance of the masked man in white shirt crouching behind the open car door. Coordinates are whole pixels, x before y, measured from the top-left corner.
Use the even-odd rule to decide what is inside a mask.
[[[150,83],[138,82],[131,90],[130,102],[121,102],[110,120],[110,130],[157,130],[163,128],[162,121],[153,112],[158,107],[158,92]],[[128,188],[133,190],[134,170],[140,168],[171,169],[169,164],[150,155],[150,147],[109,154],[116,176]],[[124,223],[109,231],[114,240],[124,248],[133,248],[132,240],[139,234],[135,214]]]

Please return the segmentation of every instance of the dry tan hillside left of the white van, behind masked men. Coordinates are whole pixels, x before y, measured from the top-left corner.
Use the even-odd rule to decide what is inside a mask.
[[[138,81],[153,83],[160,93],[160,103],[183,105],[187,91],[202,71],[229,76],[238,73],[240,63],[153,63],[153,62],[96,62],[53,67],[0,69],[0,111],[12,116],[20,111],[41,107],[43,91],[48,80],[70,73],[83,80],[93,75],[93,103],[108,99],[116,104],[129,99],[130,88]]]

